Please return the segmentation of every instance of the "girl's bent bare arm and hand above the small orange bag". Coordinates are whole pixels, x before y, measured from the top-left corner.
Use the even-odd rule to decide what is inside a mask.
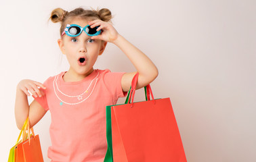
[[[45,89],[43,84],[33,80],[21,80],[18,83],[15,101],[15,118],[16,125],[20,130],[27,117],[29,117],[30,127],[32,128],[47,112],[36,100],[28,105],[28,96],[30,96],[28,90],[34,97],[41,97],[44,95],[43,91],[40,90],[38,86]]]

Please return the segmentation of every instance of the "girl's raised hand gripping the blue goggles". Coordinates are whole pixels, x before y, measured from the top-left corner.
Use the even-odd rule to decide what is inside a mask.
[[[91,26],[91,28],[94,28],[95,26],[99,26],[97,31],[102,30],[100,35],[91,36],[91,39],[101,39],[103,41],[113,43],[116,40],[116,38],[119,36],[119,33],[109,22],[104,22],[102,20],[93,20],[91,22],[88,22],[88,24],[89,26]]]

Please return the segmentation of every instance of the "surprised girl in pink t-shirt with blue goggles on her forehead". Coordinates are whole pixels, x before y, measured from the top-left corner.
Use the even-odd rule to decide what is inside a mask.
[[[135,66],[139,73],[136,89],[158,76],[154,63],[116,31],[111,18],[109,9],[54,9],[49,19],[61,23],[58,45],[70,68],[43,84],[33,80],[18,83],[15,115],[19,129],[27,117],[33,127],[48,110],[51,112],[48,157],[52,161],[104,161],[106,105],[115,105],[119,97],[125,97],[136,74],[93,68],[107,43],[119,47]],[[30,105],[28,90],[35,99]]]

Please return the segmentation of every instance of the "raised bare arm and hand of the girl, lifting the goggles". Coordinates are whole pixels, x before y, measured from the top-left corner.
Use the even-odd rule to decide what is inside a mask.
[[[102,34],[92,36],[92,39],[101,39],[106,42],[114,43],[114,45],[119,47],[119,49],[127,55],[131,63],[133,63],[139,73],[136,89],[148,85],[158,76],[158,70],[154,63],[152,63],[152,61],[142,53],[140,49],[137,49],[137,47],[123,38],[123,36],[121,36],[110,23],[103,22],[102,20],[93,20],[92,22],[88,22],[88,24],[91,28],[100,26],[97,30],[103,30]],[[127,92],[129,90],[131,80],[135,74],[136,72],[131,72],[123,75],[121,80],[123,91]]]

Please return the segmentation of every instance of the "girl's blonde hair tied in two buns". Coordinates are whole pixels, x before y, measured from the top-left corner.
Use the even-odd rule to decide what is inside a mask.
[[[97,20],[100,19],[104,22],[111,22],[112,14],[109,9],[102,8],[102,9],[83,9],[82,7],[76,8],[70,12],[65,11],[62,8],[56,8],[53,11],[51,11],[51,16],[49,20],[51,22],[57,23],[60,22],[60,36],[66,28],[66,25],[72,20],[72,18],[83,18],[85,20],[91,21],[91,20]],[[48,20],[48,21],[49,21]]]

